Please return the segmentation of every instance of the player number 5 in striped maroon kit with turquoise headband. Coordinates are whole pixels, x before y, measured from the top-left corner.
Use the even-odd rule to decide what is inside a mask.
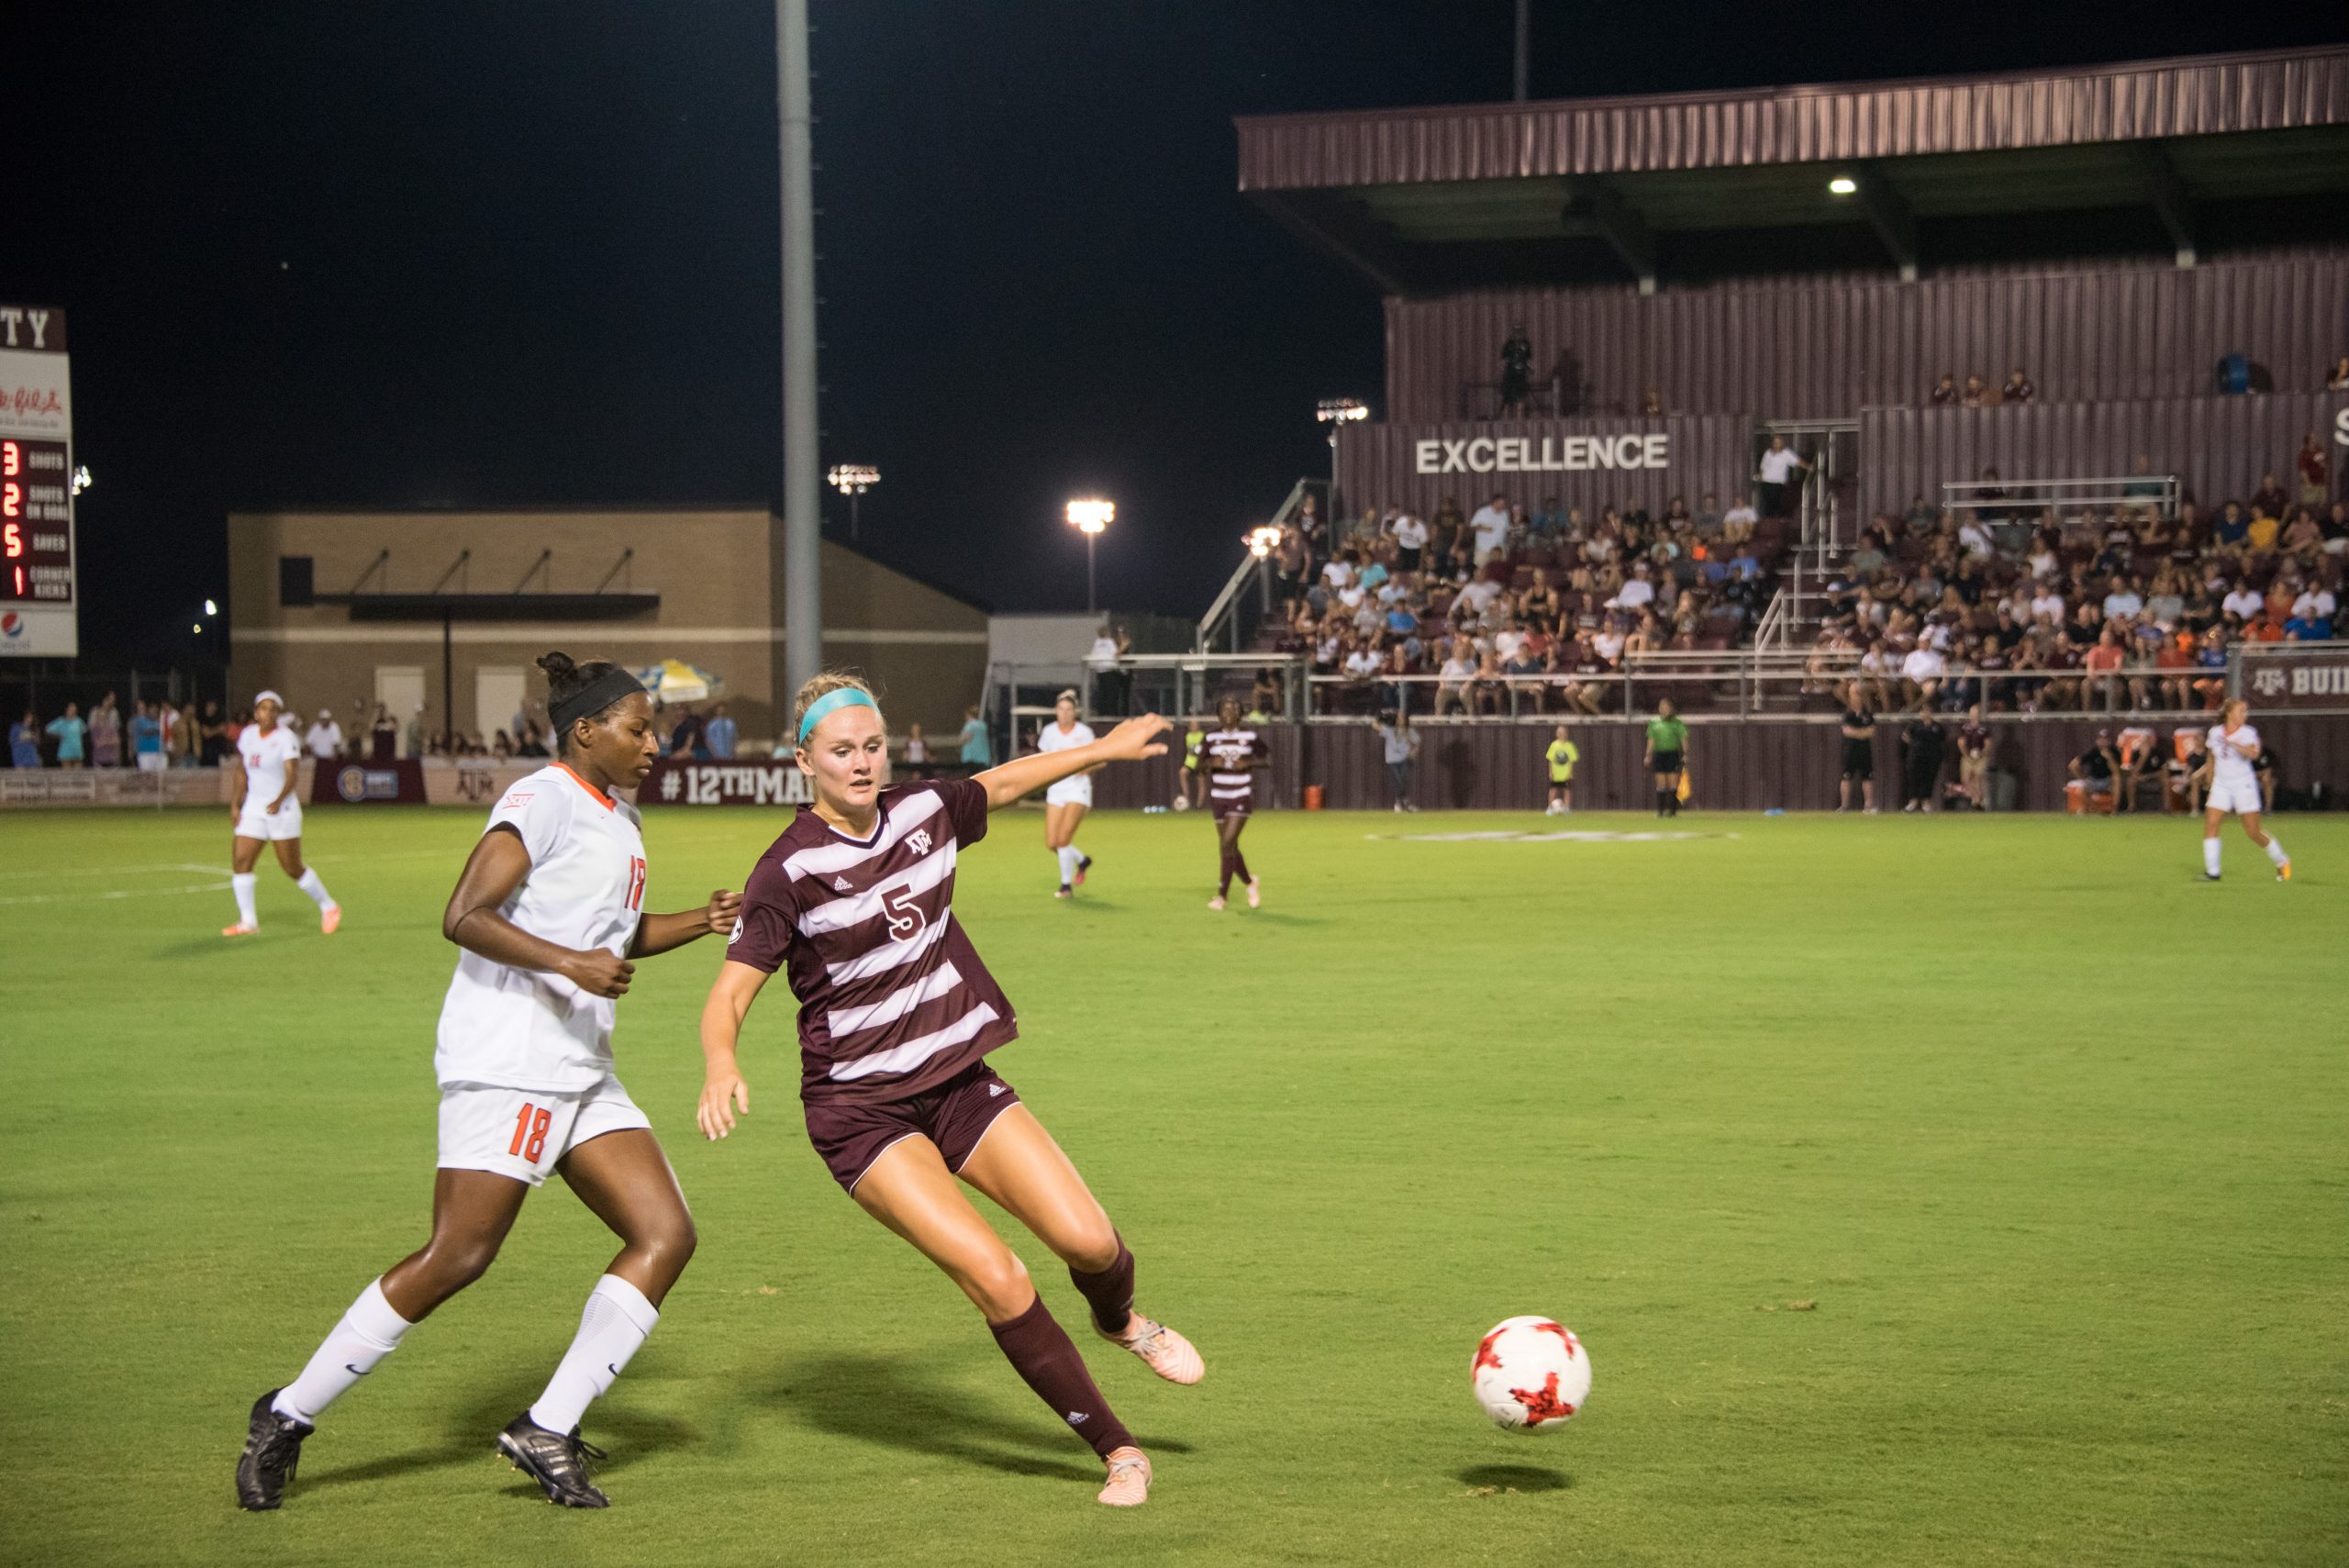
[[[1128,718],[1097,742],[972,779],[895,786],[883,786],[888,728],[862,683],[808,681],[794,721],[815,805],[799,807],[742,890],[742,918],[702,1009],[702,1134],[723,1138],[735,1113],[749,1110],[735,1042],[759,988],[787,969],[799,998],[799,1096],[834,1181],[963,1286],[1027,1385],[1109,1465],[1102,1502],[1144,1502],[1149,1458],[956,1176],[1069,1265],[1102,1338],[1170,1383],[1198,1383],[1205,1364],[1186,1338],[1132,1310],[1135,1256],[1069,1157],[987,1066],[987,1052],[1019,1030],[954,918],[954,861],[987,836],[987,812],[1099,763],[1165,753],[1156,737],[1167,721]]]

